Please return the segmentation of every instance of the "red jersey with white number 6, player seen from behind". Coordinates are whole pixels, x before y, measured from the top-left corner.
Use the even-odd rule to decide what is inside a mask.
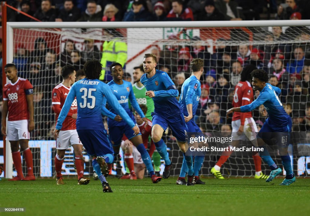
[[[240,81],[235,87],[235,94],[233,96],[232,106],[233,107],[244,106],[252,103],[252,101],[253,101],[253,89],[251,84],[248,81],[246,82]],[[243,125],[244,119],[251,117],[252,112],[247,113],[234,112],[232,120],[236,121],[238,119],[241,119],[241,124]]]

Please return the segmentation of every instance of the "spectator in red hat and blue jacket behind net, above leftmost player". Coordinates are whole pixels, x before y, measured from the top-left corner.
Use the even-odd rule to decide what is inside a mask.
[[[23,44],[16,46],[16,53],[13,58],[13,64],[16,66],[18,76],[26,79],[27,62],[28,62],[28,50],[25,49]]]

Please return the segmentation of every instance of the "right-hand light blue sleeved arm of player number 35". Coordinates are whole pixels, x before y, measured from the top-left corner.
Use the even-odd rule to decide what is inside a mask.
[[[118,103],[117,98],[112,93],[110,87],[108,85],[103,85],[103,92],[106,100],[108,101],[109,105],[113,107],[115,111],[126,121],[126,123],[131,127],[135,127],[135,123],[131,120],[129,115],[126,113],[124,108]]]

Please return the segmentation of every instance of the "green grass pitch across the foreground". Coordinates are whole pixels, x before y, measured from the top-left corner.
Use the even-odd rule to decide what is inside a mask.
[[[310,212],[310,179],[279,186],[254,178],[202,178],[205,185],[175,185],[176,177],[157,184],[149,178],[108,178],[113,193],[103,193],[100,181],[77,185],[64,178],[29,182],[0,181],[0,207],[26,208],[1,215],[306,215]],[[308,213],[307,213],[308,212]]]

